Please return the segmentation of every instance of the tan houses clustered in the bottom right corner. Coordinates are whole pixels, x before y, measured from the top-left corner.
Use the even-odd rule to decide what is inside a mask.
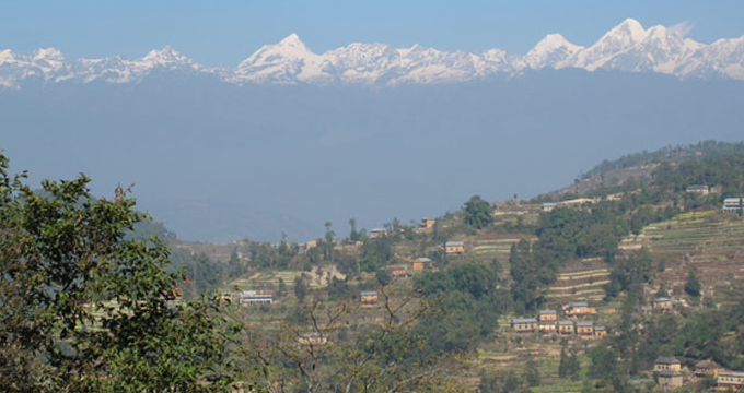
[[[744,388],[744,372],[729,371],[719,367],[714,361],[702,360],[695,365],[695,370],[687,376],[683,373],[682,364],[673,357],[660,356],[653,365],[653,373],[656,377],[659,388],[663,390],[682,388],[685,377],[688,381],[712,377],[716,380],[716,390],[737,391]]]

